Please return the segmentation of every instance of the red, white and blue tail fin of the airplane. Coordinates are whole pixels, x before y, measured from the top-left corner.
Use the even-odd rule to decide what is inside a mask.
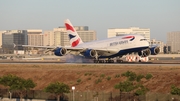
[[[69,19],[65,20],[65,26],[66,26],[67,34],[69,36],[71,47],[76,47],[77,45],[83,43],[83,41],[77,34],[76,30],[74,29]]]

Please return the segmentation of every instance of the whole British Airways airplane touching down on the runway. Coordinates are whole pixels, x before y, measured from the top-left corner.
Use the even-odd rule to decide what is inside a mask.
[[[157,55],[160,52],[159,46],[150,46],[149,42],[141,35],[127,34],[84,43],[69,19],[65,20],[65,27],[71,46],[22,46],[47,48],[53,51],[56,56],[65,56],[67,54],[83,56],[94,59],[94,63],[113,63],[112,58],[115,57],[118,58],[117,62],[122,62],[120,58],[127,54],[137,53],[140,57],[147,57]],[[107,58],[108,60],[102,60]]]

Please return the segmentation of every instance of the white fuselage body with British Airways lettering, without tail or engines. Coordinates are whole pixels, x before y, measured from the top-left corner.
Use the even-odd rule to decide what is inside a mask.
[[[126,38],[128,36],[134,36],[134,39],[132,38]],[[104,54],[105,56],[110,56],[113,54],[118,54],[121,50],[129,51],[135,49],[135,51],[140,51],[141,49],[144,49],[146,47],[149,47],[148,41],[140,35],[125,35],[125,36],[117,36],[113,38],[109,38],[106,40],[97,40],[87,43],[79,44],[76,47],[83,47],[87,49],[106,49],[107,51],[113,51],[110,54]],[[139,50],[138,50],[139,49]]]

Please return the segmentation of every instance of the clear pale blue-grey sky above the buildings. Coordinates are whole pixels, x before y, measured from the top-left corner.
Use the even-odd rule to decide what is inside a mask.
[[[180,31],[180,0],[0,0],[0,30],[53,30],[65,19],[98,39],[108,28],[140,27],[166,43],[168,32]]]

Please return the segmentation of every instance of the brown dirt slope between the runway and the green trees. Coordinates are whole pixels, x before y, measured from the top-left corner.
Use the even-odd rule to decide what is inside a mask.
[[[137,74],[150,73],[150,80],[142,79],[142,84],[152,92],[169,93],[171,85],[180,87],[180,65],[86,65],[86,64],[0,64],[0,77],[14,74],[23,78],[31,78],[42,90],[50,82],[60,81],[75,86],[79,91],[118,92],[114,85],[124,81],[125,77],[117,77],[126,71]],[[111,78],[107,80],[107,77]],[[0,88],[4,88],[0,85]]]

